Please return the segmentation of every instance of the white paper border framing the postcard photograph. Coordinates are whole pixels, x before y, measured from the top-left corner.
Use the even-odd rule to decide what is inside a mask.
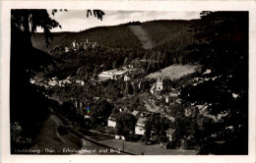
[[[101,9],[133,11],[249,11],[249,155],[246,156],[83,156],[10,155],[9,81],[11,9]],[[256,1],[2,1],[1,6],[1,162],[255,162]]]

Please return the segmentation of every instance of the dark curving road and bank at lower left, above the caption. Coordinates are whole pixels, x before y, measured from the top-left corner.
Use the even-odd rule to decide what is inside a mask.
[[[64,123],[65,124],[64,124]],[[67,126],[68,122],[58,114],[51,114],[41,125],[41,129],[34,142],[36,149],[40,149],[40,154],[132,154],[116,150],[105,144],[81,134],[76,128]],[[57,129],[60,126],[67,127],[69,133],[61,136]]]

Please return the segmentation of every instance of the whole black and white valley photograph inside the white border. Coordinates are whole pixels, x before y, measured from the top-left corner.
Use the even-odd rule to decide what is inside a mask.
[[[9,12],[11,156],[249,154],[248,10]]]

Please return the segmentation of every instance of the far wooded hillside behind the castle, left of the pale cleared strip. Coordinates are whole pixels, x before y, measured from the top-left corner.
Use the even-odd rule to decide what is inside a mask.
[[[45,46],[43,33],[32,36],[33,46],[43,51],[49,51],[55,45],[70,47],[74,40],[91,42],[112,48],[136,48],[141,49],[142,44],[126,25],[115,27],[94,27],[80,32],[55,32],[49,47]]]

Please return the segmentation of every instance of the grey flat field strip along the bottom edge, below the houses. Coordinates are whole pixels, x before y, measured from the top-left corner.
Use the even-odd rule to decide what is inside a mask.
[[[125,151],[139,155],[142,153],[145,155],[195,155],[197,153],[195,150],[164,149],[159,144],[146,145],[142,142],[123,142],[123,140],[120,139],[107,139],[100,141],[100,143],[107,144],[121,150],[123,149],[124,143]]]

